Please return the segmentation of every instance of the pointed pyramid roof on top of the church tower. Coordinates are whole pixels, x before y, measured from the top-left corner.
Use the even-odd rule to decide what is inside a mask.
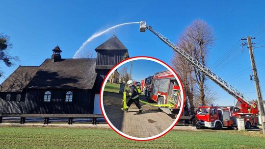
[[[127,48],[115,35],[113,35],[95,50],[127,50]]]

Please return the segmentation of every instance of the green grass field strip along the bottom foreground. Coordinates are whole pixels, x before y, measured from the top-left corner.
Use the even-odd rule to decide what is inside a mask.
[[[255,135],[254,135],[255,134]],[[255,132],[171,131],[148,142],[125,139],[111,129],[0,127],[0,149],[262,149],[265,137]]]

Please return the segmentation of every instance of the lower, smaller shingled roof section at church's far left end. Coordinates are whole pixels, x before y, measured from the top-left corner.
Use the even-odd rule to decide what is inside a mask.
[[[36,66],[19,66],[0,85],[0,92],[22,92],[38,69]]]

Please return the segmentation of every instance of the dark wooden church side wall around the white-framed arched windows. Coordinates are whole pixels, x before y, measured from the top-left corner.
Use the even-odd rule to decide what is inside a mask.
[[[68,90],[49,90],[50,102],[43,101],[46,90],[28,90],[24,101],[5,101],[0,99],[0,113],[13,114],[92,114],[94,93],[92,90],[72,90],[73,101],[66,102]],[[25,94],[24,94],[25,95]]]

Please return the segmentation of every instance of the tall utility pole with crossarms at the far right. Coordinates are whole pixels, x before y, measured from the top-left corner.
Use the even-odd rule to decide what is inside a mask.
[[[250,60],[251,60],[251,66],[252,66],[252,72],[253,75],[251,75],[251,80],[255,81],[255,86],[256,86],[256,92],[257,92],[257,97],[258,97],[258,106],[259,106],[259,114],[262,120],[262,130],[263,130],[263,134],[265,134],[265,110],[264,110],[264,103],[263,103],[263,98],[262,98],[262,90],[261,90],[261,86],[260,86],[260,80],[258,77],[258,72],[257,72],[257,68],[256,68],[256,63],[255,63],[255,58],[254,58],[254,53],[253,53],[253,44],[256,43],[251,43],[251,39],[255,39],[255,38],[251,38],[251,37],[247,37],[241,40],[247,40],[247,43],[242,43],[242,45],[248,45],[248,50],[249,50],[249,55],[250,55]],[[254,77],[254,78],[252,78]]]

